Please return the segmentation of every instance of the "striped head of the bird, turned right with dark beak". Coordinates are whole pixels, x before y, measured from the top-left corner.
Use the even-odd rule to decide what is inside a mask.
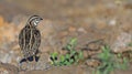
[[[32,15],[28,20],[28,23],[31,24],[31,25],[33,25],[33,27],[36,27],[41,20],[43,20],[41,17],[38,17],[38,15]]]

